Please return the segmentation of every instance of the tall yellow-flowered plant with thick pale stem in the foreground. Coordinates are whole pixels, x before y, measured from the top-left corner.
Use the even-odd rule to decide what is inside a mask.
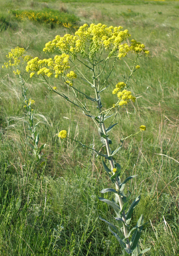
[[[128,196],[124,193],[126,183],[136,175],[130,176],[122,181],[120,177],[121,166],[116,162],[114,156],[122,148],[123,141],[144,131],[145,125],[141,125],[139,131],[135,134],[131,134],[127,137],[123,135],[119,145],[114,149],[110,146],[112,140],[110,140],[109,134],[113,127],[117,125],[114,121],[120,109],[125,108],[130,101],[135,102],[136,100],[132,92],[128,90],[130,78],[133,73],[140,68],[139,65],[136,65],[138,58],[148,55],[149,51],[145,49],[144,44],[134,39],[131,40],[131,44],[126,43],[129,42],[128,39],[131,35],[127,29],[122,29],[121,26],[107,27],[101,23],[97,25],[91,24],[90,26],[84,24],[75,32],[75,35],[66,34],[64,36],[56,36],[55,39],[48,42],[43,49],[44,52],[51,52],[56,55],[49,59],[40,60],[38,57],[35,57],[29,60],[26,71],[30,73],[31,77],[38,79],[41,79],[39,78],[41,75],[43,77],[42,80],[47,83],[48,89],[51,92],[58,94],[66,101],[74,104],[82,110],[86,117],[93,120],[97,127],[101,143],[106,148],[106,154],[94,149],[94,147],[89,147],[78,140],[70,138],[65,130],[60,131],[58,136],[61,139],[68,137],[84,148],[90,148],[97,155],[102,156],[103,167],[115,188],[102,189],[101,193],[112,192],[115,195],[115,200],[110,201],[104,197],[98,198],[113,207],[116,213],[116,223],[112,224],[101,216],[99,216],[99,218],[108,224],[109,230],[121,245],[123,255],[141,256],[150,250],[150,248],[148,248],[141,252],[138,245],[141,231],[145,225],[143,215],[141,215],[135,227],[132,228],[130,226],[132,212],[139,203],[140,196],[129,206],[131,193],[129,192]],[[135,56],[134,60],[128,57],[129,53],[133,53]],[[123,58],[128,58],[132,62],[133,68],[130,69],[128,79],[124,77],[124,81],[117,81],[116,86],[112,86],[111,95],[116,94],[116,100],[110,108],[103,109],[102,92],[109,86],[109,84],[106,85],[106,83],[116,65],[116,59],[121,60]],[[110,68],[108,64],[109,59],[113,60],[112,67]],[[81,65],[86,68],[86,73],[81,71]],[[71,66],[76,70],[76,73],[80,74],[80,77],[77,77],[75,71],[70,70]],[[105,72],[108,70],[106,77],[102,76],[105,73],[104,70]],[[87,76],[88,73],[90,74],[89,76]],[[65,96],[66,93],[58,89],[60,86],[58,86],[58,88],[52,86],[50,78],[53,76],[62,79],[61,81],[69,86],[69,91],[71,90],[71,95],[73,96]],[[85,90],[83,92],[80,91],[78,88],[79,83],[86,84],[86,86],[91,88],[92,92],[90,95],[88,95]],[[79,94],[82,97],[79,98]],[[70,97],[74,97],[74,99]],[[90,102],[90,104],[87,104],[88,102]],[[90,109],[91,103],[95,106],[97,105],[97,108]],[[106,128],[106,119],[110,117],[112,117],[113,120]]]

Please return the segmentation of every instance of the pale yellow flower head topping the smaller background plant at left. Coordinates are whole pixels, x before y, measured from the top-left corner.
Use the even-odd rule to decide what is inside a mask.
[[[9,52],[8,55],[6,55],[6,58],[9,59],[9,62],[5,62],[2,68],[4,68],[4,66],[6,68],[8,68],[9,66],[19,67],[19,63],[21,61],[23,61],[24,63],[26,61],[29,61],[32,58],[30,55],[24,56],[24,53],[25,53],[24,48],[16,47],[15,49],[11,49],[11,52]],[[13,71],[13,73],[15,75],[20,75],[19,68],[16,69],[16,71]]]

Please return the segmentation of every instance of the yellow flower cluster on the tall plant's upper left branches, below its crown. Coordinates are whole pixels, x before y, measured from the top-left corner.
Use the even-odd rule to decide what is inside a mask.
[[[69,57],[70,56],[66,53],[56,55],[54,59],[49,58],[40,60],[38,57],[35,57],[27,62],[26,71],[33,71],[30,73],[30,77],[37,73],[37,75],[41,74],[42,76],[48,77],[55,75],[56,78],[58,76],[67,76],[70,79],[74,79],[77,75],[73,71],[70,71],[70,73],[65,75],[65,71],[70,68]]]

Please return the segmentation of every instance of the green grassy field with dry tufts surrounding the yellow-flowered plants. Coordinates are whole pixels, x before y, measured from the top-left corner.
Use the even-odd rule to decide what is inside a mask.
[[[126,140],[117,156],[123,178],[138,174],[127,188],[132,192],[131,200],[141,194],[132,221],[135,223],[141,213],[148,221],[140,239],[143,249],[152,246],[145,256],[179,255],[179,1],[0,0],[0,4],[0,67],[17,46],[33,57],[51,56],[42,51],[45,43],[56,35],[73,34],[75,26],[84,23],[121,25],[150,51],[149,57],[139,60],[141,68],[131,79],[137,102],[121,109],[111,139],[115,147],[123,134],[130,135],[141,124],[146,125],[146,132]],[[63,12],[71,22],[76,16],[74,27],[19,20],[12,13],[48,9]],[[125,62],[120,61],[109,83],[114,87],[128,74]],[[28,76],[23,74],[25,79]],[[52,83],[66,88],[57,80]],[[118,242],[98,219],[105,214],[111,222],[114,219],[113,210],[97,197],[110,184],[101,158],[57,137],[66,129],[71,137],[100,149],[98,132],[91,120],[50,93],[43,82],[29,79],[26,87],[35,100],[39,144],[47,144],[38,162],[27,143],[21,84],[10,69],[1,68],[0,255],[122,255]],[[113,104],[111,91],[109,86],[104,92],[106,107]]]

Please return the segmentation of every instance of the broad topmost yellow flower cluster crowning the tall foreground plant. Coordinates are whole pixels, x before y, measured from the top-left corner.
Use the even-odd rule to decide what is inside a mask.
[[[107,27],[101,23],[97,25],[91,24],[89,27],[84,24],[75,32],[75,36],[70,34],[66,34],[63,37],[56,36],[53,41],[45,45],[43,51],[54,52],[57,48],[61,52],[68,52],[74,58],[78,52],[81,52],[82,56],[87,55],[90,59],[100,48],[109,51],[109,56],[116,54],[118,50],[117,56],[119,59],[125,57],[128,52],[145,52],[145,54],[148,54],[148,51],[144,49],[145,45],[135,40],[131,40],[131,46],[126,43],[122,44],[131,36],[127,29],[122,31],[122,28],[121,26]]]

